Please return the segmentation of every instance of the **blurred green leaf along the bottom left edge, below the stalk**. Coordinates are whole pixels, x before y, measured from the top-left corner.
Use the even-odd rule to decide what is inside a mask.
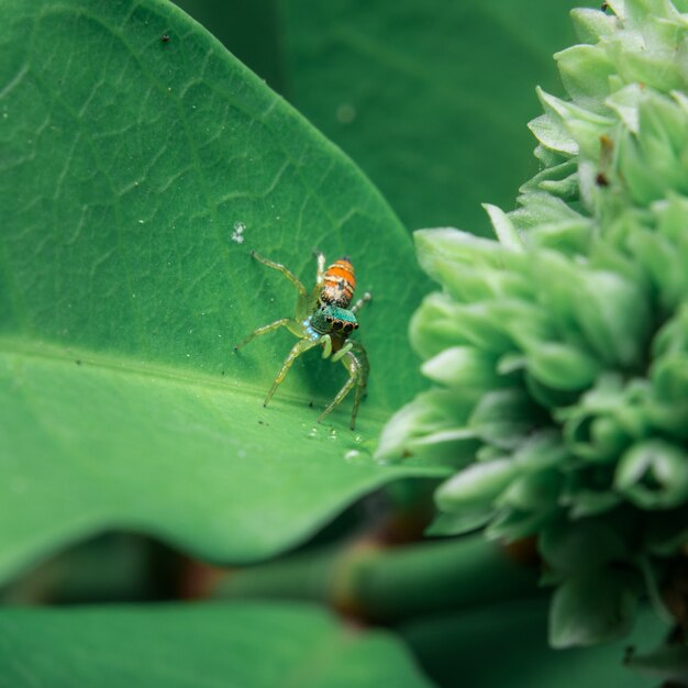
[[[12,610],[0,687],[429,688],[403,646],[301,604]]]

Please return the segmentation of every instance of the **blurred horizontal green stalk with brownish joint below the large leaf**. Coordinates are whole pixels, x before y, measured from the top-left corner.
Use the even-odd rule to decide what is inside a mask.
[[[480,536],[393,550],[357,542],[235,572],[217,596],[318,601],[396,622],[535,595],[536,579],[536,570]]]

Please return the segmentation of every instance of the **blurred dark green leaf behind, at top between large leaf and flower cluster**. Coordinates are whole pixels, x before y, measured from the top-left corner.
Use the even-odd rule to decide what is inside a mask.
[[[265,53],[280,53],[280,92],[360,165],[409,230],[490,236],[480,203],[511,210],[537,169],[525,124],[541,113],[535,86],[562,90],[552,54],[575,42],[568,11],[579,4],[263,0],[240,41],[226,8],[244,20],[242,0],[179,3],[268,82]]]

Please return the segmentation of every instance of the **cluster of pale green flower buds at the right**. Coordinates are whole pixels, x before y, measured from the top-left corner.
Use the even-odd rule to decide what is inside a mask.
[[[455,464],[435,534],[537,536],[555,646],[626,634],[641,596],[686,623],[687,8],[608,5],[573,13],[569,99],[540,92],[543,169],[487,207],[498,238],[415,234],[443,291],[411,340],[439,387],[379,448]]]

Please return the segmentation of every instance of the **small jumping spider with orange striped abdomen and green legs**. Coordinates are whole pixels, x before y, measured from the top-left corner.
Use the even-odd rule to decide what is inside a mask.
[[[251,255],[264,265],[279,270],[295,285],[299,292],[296,315],[293,318],[282,318],[268,325],[258,328],[234,347],[234,351],[236,351],[245,344],[248,344],[254,337],[260,334],[267,334],[282,326],[287,328],[289,332],[299,337],[299,341],[289,352],[280,371],[275,378],[265,398],[264,406],[267,406],[268,401],[273,398],[277,387],[285,379],[291,364],[309,348],[320,345],[322,347],[323,358],[330,358],[333,363],[337,360],[342,362],[348,371],[348,379],[332,400],[332,403],[320,414],[318,422],[322,421],[322,419],[355,387],[356,391],[351,421],[351,429],[353,430],[356,423],[358,406],[366,388],[369,366],[366,349],[360,343],[349,341],[348,335],[354,330],[358,329],[356,311],[358,311],[366,301],[370,300],[370,295],[366,292],[348,309],[356,286],[354,266],[348,258],[340,258],[325,270],[324,255],[322,253],[315,253],[318,258],[318,274],[315,286],[309,292],[293,273],[280,263],[274,263],[273,260],[263,258],[253,251]]]

